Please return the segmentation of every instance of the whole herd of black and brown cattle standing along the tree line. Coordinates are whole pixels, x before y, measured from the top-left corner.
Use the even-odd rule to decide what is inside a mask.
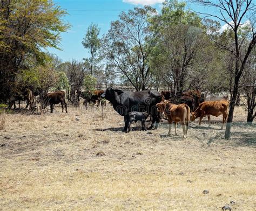
[[[35,108],[35,96],[36,92],[32,92],[30,89],[26,89],[25,94],[22,96],[12,96],[9,100],[9,109],[14,105],[15,101],[20,103],[22,100],[27,101],[26,108],[32,110]],[[174,122],[175,134],[177,135],[177,123],[180,122],[183,127],[183,137],[186,138],[188,130],[188,122],[194,121],[199,118],[199,125],[201,119],[205,116],[208,117],[208,123],[210,125],[210,115],[218,117],[223,115],[223,129],[224,123],[227,120],[227,99],[221,99],[218,101],[204,101],[204,94],[201,94],[197,90],[184,92],[177,97],[174,93],[169,91],[157,92],[156,90],[144,90],[140,92],[129,92],[121,89],[107,88],[104,90],[95,90],[94,92],[83,92],[81,95],[84,99],[84,105],[90,103],[97,104],[99,106],[102,102],[102,106],[105,105],[105,100],[108,100],[114,110],[119,115],[124,116],[124,131],[129,132],[131,130],[132,122],[141,121],[143,130],[146,130],[145,121],[149,115],[152,117],[152,123],[150,129],[157,129],[162,114],[168,119],[169,133],[171,132],[171,125]],[[46,108],[50,104],[51,112],[55,104],[62,105],[62,112],[67,110],[67,104],[65,102],[65,92],[58,91],[48,93],[43,96],[43,108]],[[192,111],[192,112],[191,112]]]

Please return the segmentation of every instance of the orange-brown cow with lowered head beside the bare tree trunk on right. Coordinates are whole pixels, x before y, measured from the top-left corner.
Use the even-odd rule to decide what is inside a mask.
[[[223,129],[224,123],[227,120],[227,109],[228,102],[226,100],[220,101],[205,101],[199,105],[199,107],[191,113],[191,121],[194,121],[196,118],[200,117],[199,125],[201,125],[201,120],[207,115],[209,126],[211,124],[210,115],[218,117],[223,115],[223,125],[220,130]]]

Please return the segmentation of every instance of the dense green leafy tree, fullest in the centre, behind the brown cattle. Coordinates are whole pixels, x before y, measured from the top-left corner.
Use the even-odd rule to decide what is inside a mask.
[[[212,55],[207,52],[210,41],[204,25],[185,6],[185,2],[166,1],[161,13],[151,18],[151,29],[157,34],[153,38],[156,45],[151,53],[151,67],[177,95],[184,91],[191,72],[194,75],[196,71],[205,71]],[[188,86],[198,86],[196,80],[192,81]]]

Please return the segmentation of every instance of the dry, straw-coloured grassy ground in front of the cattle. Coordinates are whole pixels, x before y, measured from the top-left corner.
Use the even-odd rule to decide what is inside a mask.
[[[110,105],[44,115],[8,114],[0,130],[2,210],[255,210],[256,125],[235,108],[231,140],[222,117],[190,123],[188,138],[122,132]],[[149,124],[149,123],[148,123]],[[136,125],[135,125],[136,126]],[[203,194],[204,190],[208,194]]]

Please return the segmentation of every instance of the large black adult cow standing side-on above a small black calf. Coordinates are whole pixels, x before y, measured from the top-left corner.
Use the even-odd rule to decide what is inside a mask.
[[[160,115],[157,111],[156,104],[161,102],[161,94],[156,90],[145,90],[141,92],[129,92],[120,89],[107,88],[101,96],[102,98],[110,101],[114,110],[121,116],[124,116],[124,131],[127,130],[129,112],[139,111],[147,112],[152,115],[152,124],[150,129],[157,129],[160,122]]]

